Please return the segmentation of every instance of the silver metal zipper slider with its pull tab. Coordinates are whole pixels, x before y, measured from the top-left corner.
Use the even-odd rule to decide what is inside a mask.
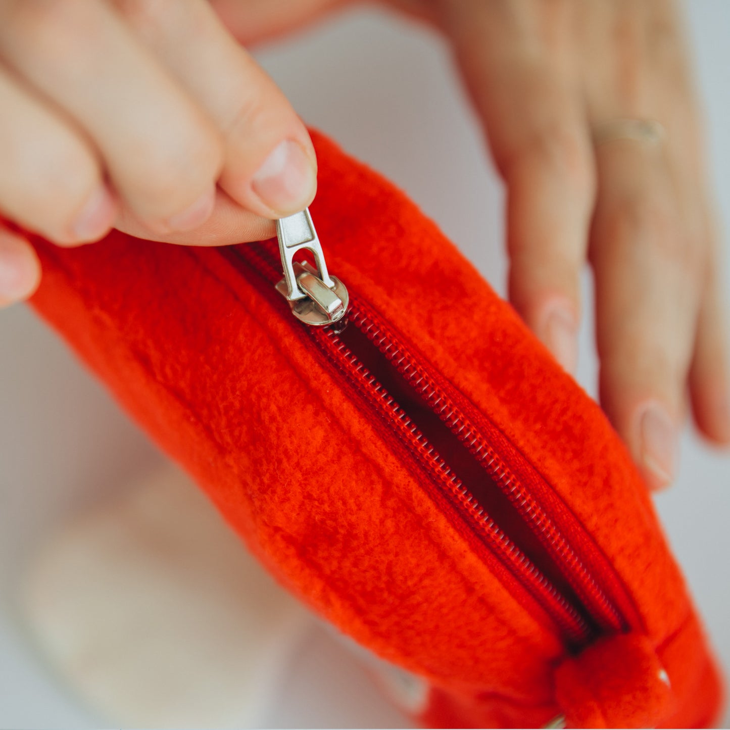
[[[276,222],[284,278],[277,291],[289,302],[294,316],[304,323],[327,325],[342,319],[350,297],[345,285],[327,271],[327,264],[308,208]],[[312,252],[316,268],[294,261],[302,249]]]

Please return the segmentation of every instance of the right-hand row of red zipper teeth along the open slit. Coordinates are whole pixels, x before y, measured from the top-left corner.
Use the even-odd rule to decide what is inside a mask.
[[[361,304],[358,302],[358,304]],[[520,485],[510,472],[507,464],[491,448],[477,429],[469,423],[466,416],[458,410],[446,393],[431,381],[423,369],[410,358],[403,348],[394,342],[385,327],[376,323],[372,312],[364,312],[360,306],[350,314],[350,320],[366,334],[373,344],[391,361],[408,383],[423,396],[429,406],[442,419],[448,429],[466,446],[472,456],[482,464],[510,502],[532,526],[542,544],[553,556],[568,566],[565,575],[572,588],[581,599],[591,607],[592,612],[601,618],[600,623],[610,629],[620,631],[625,625],[621,614],[596,583],[583,561],[575,554],[563,535],[550,522],[550,518],[539,507],[536,500]],[[443,402],[442,402],[443,401]],[[440,407],[439,403],[442,403]],[[450,410],[448,410],[450,408]],[[447,412],[448,411],[448,412]]]

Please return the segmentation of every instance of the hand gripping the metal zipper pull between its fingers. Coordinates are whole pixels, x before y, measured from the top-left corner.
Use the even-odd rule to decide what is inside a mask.
[[[0,211],[58,245],[256,240],[315,194],[307,130],[204,0],[5,0],[0,110]],[[0,226],[0,305],[38,280]]]

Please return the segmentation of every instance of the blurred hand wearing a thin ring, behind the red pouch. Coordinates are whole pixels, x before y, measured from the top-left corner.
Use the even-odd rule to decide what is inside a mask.
[[[266,0],[214,2],[245,42],[331,4],[292,1],[283,14]],[[648,484],[666,485],[687,389],[699,429],[730,441],[718,240],[674,5],[389,4],[432,23],[453,47],[507,184],[510,299],[568,371],[580,272],[587,259],[593,266],[602,406]],[[666,137],[616,138],[613,122],[625,118],[658,120]]]

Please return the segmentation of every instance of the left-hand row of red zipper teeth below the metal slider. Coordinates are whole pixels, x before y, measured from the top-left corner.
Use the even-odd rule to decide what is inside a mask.
[[[361,312],[357,311],[357,305],[354,303],[350,304],[350,315],[354,315],[356,318],[362,316]],[[488,538],[490,544],[502,556],[511,572],[518,574],[520,582],[528,583],[529,588],[538,593],[543,604],[547,599],[548,605],[550,605],[550,615],[566,632],[572,642],[583,642],[591,631],[585,619],[569,604],[564,596],[561,596],[561,593],[550,583],[548,578],[542,575],[539,569],[531,563],[529,558],[520,551],[518,546],[507,537],[507,534],[478,504],[472,493],[452,472],[444,459],[438,456],[435,447],[419,431],[418,426],[412,422],[407,413],[393,399],[393,396],[385,391],[377,378],[358,360],[357,356],[353,355],[347,345],[337,337],[337,334],[332,331],[322,330],[313,334],[326,347],[326,350],[336,356],[335,361],[342,366],[347,377],[359,380],[366,386],[366,396],[371,396],[369,401],[375,404],[378,410],[391,420],[396,429],[401,431],[401,435],[415,446],[420,461],[429,469],[429,472],[436,472],[439,482],[469,512]]]

